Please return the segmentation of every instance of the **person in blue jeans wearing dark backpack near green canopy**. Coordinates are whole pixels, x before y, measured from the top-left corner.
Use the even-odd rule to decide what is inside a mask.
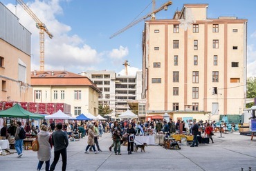
[[[18,157],[22,156],[23,140],[26,138],[26,132],[21,127],[21,122],[17,121],[17,128],[15,132],[15,149],[18,153]]]

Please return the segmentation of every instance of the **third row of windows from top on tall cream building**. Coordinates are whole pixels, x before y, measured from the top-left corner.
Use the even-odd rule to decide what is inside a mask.
[[[198,66],[198,56],[194,55],[194,66]],[[179,64],[179,57],[178,55],[174,55],[174,66],[178,66]],[[218,66],[218,55],[214,55],[213,56],[213,66]],[[161,63],[160,62],[154,62],[153,63],[153,67],[154,68],[161,68]],[[239,63],[238,62],[231,62],[231,67],[239,67]]]

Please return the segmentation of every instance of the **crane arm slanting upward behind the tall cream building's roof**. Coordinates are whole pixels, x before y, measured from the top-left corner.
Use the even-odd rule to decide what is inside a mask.
[[[163,5],[154,10],[154,6],[155,6],[155,1],[153,0],[153,11],[150,12],[149,14],[145,15],[145,17],[141,17],[140,19],[133,21],[131,23],[129,23],[128,26],[126,26],[125,28],[122,28],[121,30],[119,30],[118,32],[114,33],[113,35],[111,35],[111,37],[109,37],[109,39],[112,39],[113,37],[116,37],[118,34],[121,34],[122,32],[125,32],[125,30],[128,30],[129,28],[131,28],[132,26],[135,26],[137,23],[140,23],[140,21],[143,21],[145,19],[147,19],[148,17],[151,17],[151,19],[155,19],[155,14],[161,10],[167,10],[168,6],[172,5],[172,1],[167,1],[167,3],[163,3]]]

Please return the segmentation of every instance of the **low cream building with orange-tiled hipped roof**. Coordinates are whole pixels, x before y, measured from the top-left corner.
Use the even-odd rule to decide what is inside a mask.
[[[98,97],[101,93],[88,78],[67,71],[31,72],[33,101],[36,103],[66,103],[71,105],[71,114],[98,115]]]

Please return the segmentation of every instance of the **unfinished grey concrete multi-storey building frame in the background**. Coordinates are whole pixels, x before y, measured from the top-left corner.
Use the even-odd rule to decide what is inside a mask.
[[[129,109],[127,101],[140,100],[142,93],[142,72],[136,76],[116,75],[114,71],[88,71],[82,75],[89,77],[102,90],[99,94],[99,104],[107,104],[113,113],[120,114]]]

